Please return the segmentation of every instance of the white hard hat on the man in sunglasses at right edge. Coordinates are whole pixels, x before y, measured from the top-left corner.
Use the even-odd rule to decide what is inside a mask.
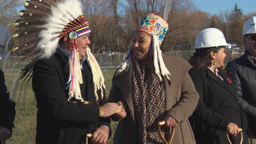
[[[243,27],[243,35],[256,33],[256,16],[249,18]]]

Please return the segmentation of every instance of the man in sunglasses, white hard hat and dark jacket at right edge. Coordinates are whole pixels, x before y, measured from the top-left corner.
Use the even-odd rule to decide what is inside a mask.
[[[227,63],[237,88],[238,101],[248,119],[249,134],[252,143],[256,144],[256,16],[249,18],[243,28],[245,53]]]

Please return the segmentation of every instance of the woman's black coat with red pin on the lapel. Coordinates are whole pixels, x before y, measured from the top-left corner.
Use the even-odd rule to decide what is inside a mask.
[[[197,144],[228,144],[226,127],[230,122],[243,129],[243,144],[247,144],[245,113],[240,110],[236,87],[222,70],[224,81],[211,70],[191,69],[189,74],[199,93],[198,105],[189,118]],[[229,136],[239,143],[240,134]]]

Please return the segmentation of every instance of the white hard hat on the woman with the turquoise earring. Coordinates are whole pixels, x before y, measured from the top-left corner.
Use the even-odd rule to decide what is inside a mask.
[[[194,49],[231,46],[227,44],[224,34],[216,28],[207,28],[197,34]]]

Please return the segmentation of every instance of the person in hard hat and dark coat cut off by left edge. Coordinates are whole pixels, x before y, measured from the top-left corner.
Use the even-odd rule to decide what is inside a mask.
[[[1,56],[5,55],[6,43],[10,36],[10,32],[0,24]],[[10,93],[5,85],[4,72],[0,69],[0,144],[11,137],[15,114],[15,102],[10,99]]]

